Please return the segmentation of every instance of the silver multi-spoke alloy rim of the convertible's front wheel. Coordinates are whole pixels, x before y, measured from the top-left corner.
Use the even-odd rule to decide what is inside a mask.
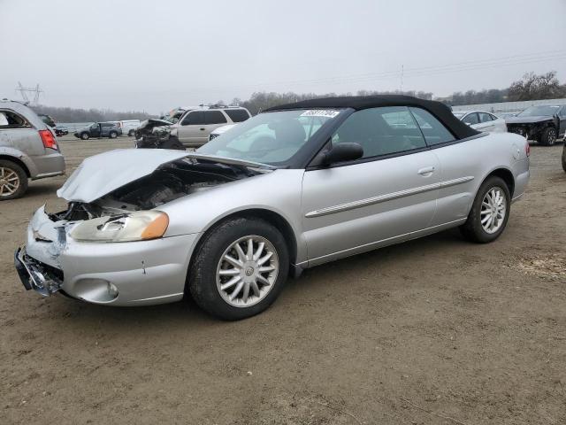
[[[216,284],[220,296],[235,307],[249,307],[264,299],[279,274],[275,247],[262,236],[244,236],[220,257]]]

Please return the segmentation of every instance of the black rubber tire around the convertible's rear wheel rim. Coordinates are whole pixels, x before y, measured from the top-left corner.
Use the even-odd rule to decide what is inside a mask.
[[[482,227],[481,224],[481,205],[486,197],[486,193],[493,188],[500,188],[505,195],[506,210],[501,228],[499,228],[494,233],[488,233]],[[511,194],[509,193],[509,187],[507,183],[495,175],[488,177],[485,182],[479,187],[474,203],[471,205],[470,214],[468,214],[468,220],[460,226],[460,231],[463,236],[471,242],[475,243],[490,243],[497,239],[503,230],[507,226],[507,221],[509,220],[509,213],[511,211]]]

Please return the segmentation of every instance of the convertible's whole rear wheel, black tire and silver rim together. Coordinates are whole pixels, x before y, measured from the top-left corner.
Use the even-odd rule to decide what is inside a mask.
[[[472,242],[489,243],[497,239],[509,220],[511,195],[501,177],[492,176],[479,187],[468,220],[460,227]]]

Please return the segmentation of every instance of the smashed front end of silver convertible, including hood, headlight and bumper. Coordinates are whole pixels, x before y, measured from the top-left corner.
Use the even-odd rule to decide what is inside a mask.
[[[63,291],[97,304],[142,305],[182,298],[195,234],[165,234],[161,205],[270,171],[269,166],[179,151],[110,151],[85,159],[39,208],[14,263],[27,290]],[[187,211],[187,214],[190,212]]]

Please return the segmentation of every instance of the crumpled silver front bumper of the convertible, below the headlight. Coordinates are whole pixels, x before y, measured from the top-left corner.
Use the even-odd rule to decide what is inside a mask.
[[[95,304],[153,305],[183,298],[198,234],[150,241],[83,243],[70,226],[50,220],[43,207],[27,228],[27,244],[15,267],[27,290],[57,290]]]

